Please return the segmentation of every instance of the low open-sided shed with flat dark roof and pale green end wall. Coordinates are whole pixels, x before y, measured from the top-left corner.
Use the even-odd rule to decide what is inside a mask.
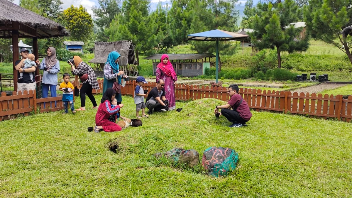
[[[147,60],[153,60],[153,74],[156,75],[156,67],[161,62],[162,54],[153,54],[145,57]],[[216,57],[213,54],[168,54],[169,60],[174,67],[177,75],[180,76],[199,76],[204,75],[205,68],[210,68],[210,58]],[[209,58],[209,62],[207,62]],[[155,60],[155,61],[154,61]],[[198,61],[202,60],[202,62]]]

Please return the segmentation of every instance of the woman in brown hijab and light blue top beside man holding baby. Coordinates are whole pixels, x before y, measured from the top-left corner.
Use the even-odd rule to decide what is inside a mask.
[[[56,59],[56,50],[53,47],[49,47],[46,50],[47,56],[43,58],[42,63],[39,60],[36,61],[37,66],[43,72],[43,98],[48,98],[49,87],[51,97],[56,97],[56,86],[57,86],[57,73],[60,72],[60,63]]]

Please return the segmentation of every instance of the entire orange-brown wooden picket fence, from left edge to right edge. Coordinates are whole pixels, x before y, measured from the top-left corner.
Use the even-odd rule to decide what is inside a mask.
[[[98,80],[100,89],[93,89],[94,94],[102,93],[103,80]],[[81,84],[82,86],[82,84]],[[136,81],[126,82],[121,87],[122,95],[134,97]],[[156,86],[156,82],[149,82],[144,85],[148,92]],[[249,107],[256,111],[272,111],[315,116],[319,118],[334,118],[344,122],[351,122],[352,119],[352,95],[347,99],[342,95],[322,95],[297,93],[289,91],[266,91],[261,89],[240,88],[239,93],[247,102]],[[227,87],[197,86],[177,84],[175,86],[176,100],[197,100],[202,98],[214,98],[227,101]],[[45,105],[44,105],[45,103]],[[17,117],[17,115],[29,115],[34,110],[37,112],[58,111],[64,109],[62,97],[36,99],[33,91],[13,92],[7,96],[5,92],[0,97],[0,121]]]

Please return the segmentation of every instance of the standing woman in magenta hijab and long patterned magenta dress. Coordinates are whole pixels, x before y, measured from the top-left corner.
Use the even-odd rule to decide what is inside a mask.
[[[156,81],[163,79],[165,81],[165,95],[169,100],[169,111],[176,109],[175,85],[177,83],[177,75],[169,61],[169,56],[164,54],[161,56],[161,63],[156,68]]]

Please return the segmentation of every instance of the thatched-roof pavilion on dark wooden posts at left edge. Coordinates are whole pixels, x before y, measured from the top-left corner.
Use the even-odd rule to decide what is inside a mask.
[[[26,10],[8,0],[0,0],[0,38],[12,38],[13,64],[19,58],[18,38],[32,38],[33,51],[38,59],[38,38],[69,36],[65,28],[43,16]],[[39,77],[39,69],[35,72]],[[13,70],[14,90],[17,90],[17,70]],[[37,80],[37,87],[40,82]]]

